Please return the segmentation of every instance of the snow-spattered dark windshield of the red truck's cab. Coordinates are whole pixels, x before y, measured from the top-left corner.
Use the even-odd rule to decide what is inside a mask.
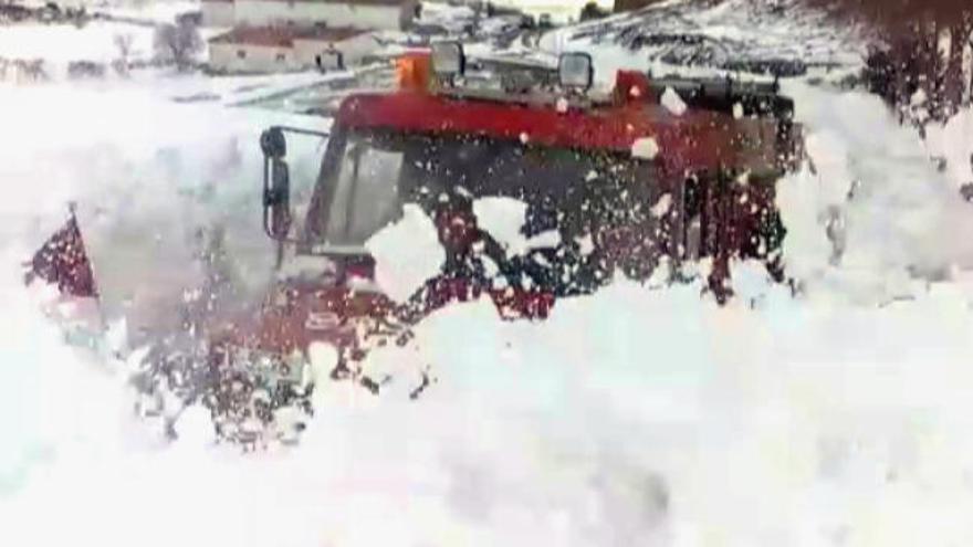
[[[307,219],[315,249],[362,248],[420,204],[430,217],[461,197],[527,203],[524,234],[584,232],[653,203],[651,166],[617,154],[533,147],[449,135],[348,132],[333,138]],[[597,198],[597,199],[592,199]],[[598,206],[590,206],[597,203]],[[587,219],[587,221],[585,220]]]

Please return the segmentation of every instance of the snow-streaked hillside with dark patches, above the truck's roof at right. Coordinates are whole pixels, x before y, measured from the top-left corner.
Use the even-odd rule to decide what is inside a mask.
[[[722,69],[726,62],[741,60],[784,60],[828,71],[861,66],[866,44],[857,30],[836,29],[820,12],[799,4],[801,0],[665,1],[547,32],[538,48],[548,55],[590,54],[595,87],[605,90],[614,85],[619,70],[712,77],[728,74]],[[653,35],[695,36],[701,43],[635,42]],[[729,74],[740,75],[735,69]]]

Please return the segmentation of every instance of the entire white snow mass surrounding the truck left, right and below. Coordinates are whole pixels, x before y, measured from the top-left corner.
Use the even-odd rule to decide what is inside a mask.
[[[816,169],[781,183],[798,296],[740,264],[723,308],[621,281],[544,323],[453,306],[367,364],[393,375],[381,397],[327,383],[300,446],[241,455],[193,410],[161,443],[123,365],[64,344],[20,262],[76,200],[100,275],[191,275],[196,229],[220,225],[259,287],[257,136],[326,120],[224,106],[249,85],[284,84],[0,84],[0,545],[973,541],[971,112],[928,145],[939,172],[877,98],[788,84]],[[306,189],[318,145],[291,155]]]

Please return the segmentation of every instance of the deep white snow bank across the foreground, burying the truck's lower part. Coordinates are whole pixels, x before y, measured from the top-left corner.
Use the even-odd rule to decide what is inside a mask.
[[[76,359],[32,361],[56,370],[48,380],[63,391],[44,407],[55,418],[94,411],[0,501],[0,534],[160,546],[969,540],[969,296],[838,315],[781,292],[758,311],[698,293],[620,283],[537,325],[498,323],[485,302],[449,308],[379,356],[395,365],[389,392],[326,385],[302,445],[261,456],[198,435],[147,448],[105,402],[111,379]],[[426,366],[436,383],[410,401]],[[79,390],[85,378],[100,389]],[[43,525],[51,515],[59,526]]]

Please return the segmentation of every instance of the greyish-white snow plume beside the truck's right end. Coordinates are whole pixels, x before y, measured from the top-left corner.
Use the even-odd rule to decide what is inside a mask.
[[[941,172],[919,135],[878,97],[801,83],[785,93],[810,159],[778,186],[791,275],[812,291],[817,283],[825,298],[873,304],[916,296],[923,291],[917,280],[973,267],[973,243],[958,236],[973,231],[973,208],[954,178],[960,150],[973,151],[973,134],[958,130],[965,114],[948,126],[951,169]]]

